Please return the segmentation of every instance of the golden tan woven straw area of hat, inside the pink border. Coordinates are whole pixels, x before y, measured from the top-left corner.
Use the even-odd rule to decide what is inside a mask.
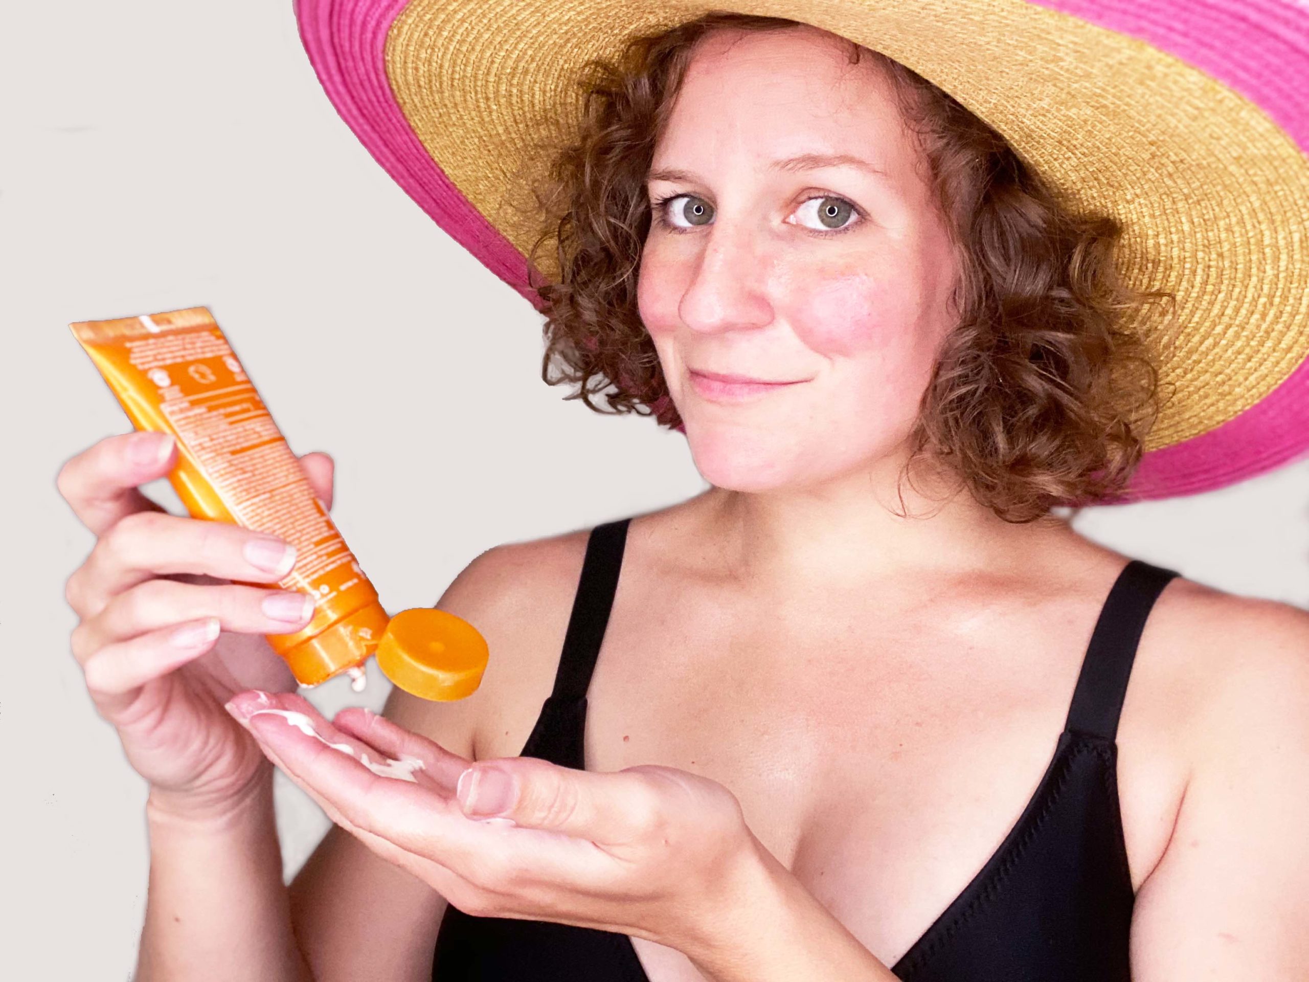
[[[581,111],[583,63],[715,8],[805,20],[890,55],[994,126],[1071,207],[1123,221],[1124,276],[1179,301],[1179,330],[1134,325],[1173,393],[1147,449],[1232,419],[1304,361],[1309,160],[1204,72],[1066,13],[1022,0],[412,0],[390,29],[387,75],[428,153],[526,254],[539,229],[522,189],[541,175],[539,147],[565,140]]]

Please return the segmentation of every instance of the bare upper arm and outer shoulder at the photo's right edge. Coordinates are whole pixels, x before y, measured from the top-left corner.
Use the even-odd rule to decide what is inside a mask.
[[[1172,839],[1136,894],[1138,982],[1309,978],[1309,613],[1227,597],[1194,625],[1210,672]]]

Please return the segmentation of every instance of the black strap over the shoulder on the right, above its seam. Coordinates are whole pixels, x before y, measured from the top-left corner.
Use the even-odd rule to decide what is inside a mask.
[[[1132,559],[1118,575],[1081,663],[1066,729],[1114,740],[1145,618],[1175,570]]]

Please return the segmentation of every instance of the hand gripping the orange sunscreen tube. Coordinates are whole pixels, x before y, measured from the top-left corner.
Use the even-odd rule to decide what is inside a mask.
[[[245,689],[295,690],[291,669],[264,635],[301,630],[308,614],[287,618],[270,608],[284,597],[292,611],[302,611],[310,594],[276,588],[295,562],[279,558],[283,539],[171,515],[137,490],[173,469],[175,444],[157,457],[165,439],[110,436],[59,471],[59,494],[97,537],[64,589],[80,618],[72,653],[99,715],[151,783],[152,804],[221,816],[270,769],[224,703]],[[300,460],[330,508],[331,457]]]

